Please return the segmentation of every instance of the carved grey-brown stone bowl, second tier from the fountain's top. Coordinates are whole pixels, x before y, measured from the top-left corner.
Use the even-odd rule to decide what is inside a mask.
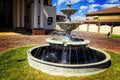
[[[81,23],[75,22],[57,22],[61,29],[65,31],[72,31],[75,30]]]

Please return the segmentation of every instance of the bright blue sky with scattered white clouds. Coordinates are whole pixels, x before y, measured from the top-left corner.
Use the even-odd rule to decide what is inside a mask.
[[[94,12],[103,10],[110,7],[120,6],[120,0],[52,0],[53,5],[56,6],[58,14],[62,14],[60,11],[66,8],[66,3],[71,1],[72,8],[78,11],[72,15],[72,20],[84,20],[85,14],[88,12]]]

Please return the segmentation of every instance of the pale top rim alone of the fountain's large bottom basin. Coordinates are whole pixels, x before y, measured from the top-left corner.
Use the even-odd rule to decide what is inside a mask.
[[[52,62],[43,61],[43,60],[40,60],[40,59],[32,56],[31,51],[33,49],[38,48],[38,47],[45,47],[45,46],[49,46],[49,44],[43,44],[43,45],[35,46],[35,47],[29,49],[27,52],[28,57],[31,58],[32,60],[39,62],[39,63],[42,63],[42,64],[51,65],[51,66],[59,66],[59,67],[88,67],[88,66],[103,64],[103,63],[108,62],[110,60],[109,54],[107,54],[105,51],[103,51],[101,49],[97,49],[94,47],[90,47],[90,48],[93,50],[97,50],[97,51],[101,52],[102,54],[104,54],[106,56],[106,58],[104,60],[99,61],[99,62],[95,62],[95,63],[88,63],[88,64],[59,64],[59,63],[52,63]]]

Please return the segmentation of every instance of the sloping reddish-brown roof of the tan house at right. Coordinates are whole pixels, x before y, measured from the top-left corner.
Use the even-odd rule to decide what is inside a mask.
[[[86,16],[103,15],[103,14],[120,14],[120,6],[112,7],[112,8],[96,11],[96,12],[90,12],[90,13],[87,13]]]

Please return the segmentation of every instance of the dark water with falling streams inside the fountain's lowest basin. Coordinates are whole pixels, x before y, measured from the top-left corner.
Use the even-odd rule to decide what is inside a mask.
[[[88,64],[105,59],[105,55],[89,47],[72,49],[70,46],[63,49],[44,46],[34,49],[32,55],[40,60],[60,64]]]

